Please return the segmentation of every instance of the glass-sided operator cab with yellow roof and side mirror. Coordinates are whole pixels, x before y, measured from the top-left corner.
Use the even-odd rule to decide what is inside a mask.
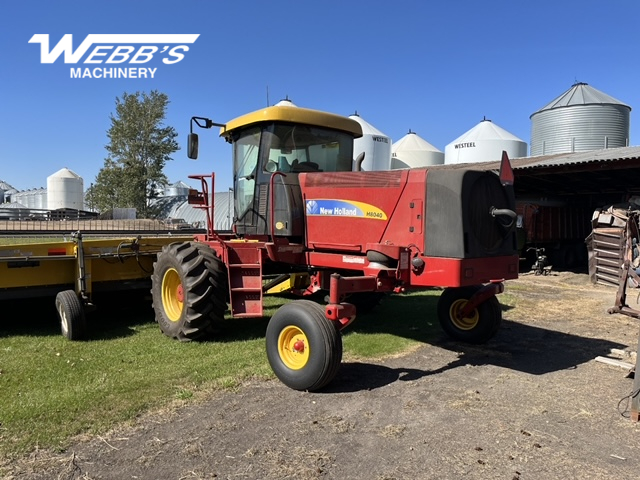
[[[216,125],[210,120],[196,123]],[[298,174],[351,171],[353,140],[362,136],[354,120],[291,106],[268,107],[218,126],[220,136],[233,145],[236,234],[293,241],[304,236]],[[194,135],[189,140],[190,158],[197,149]]]

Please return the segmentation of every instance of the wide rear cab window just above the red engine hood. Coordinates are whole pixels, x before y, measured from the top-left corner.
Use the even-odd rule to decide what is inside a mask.
[[[345,172],[353,162],[353,136],[336,130],[272,123],[263,128],[265,172]]]

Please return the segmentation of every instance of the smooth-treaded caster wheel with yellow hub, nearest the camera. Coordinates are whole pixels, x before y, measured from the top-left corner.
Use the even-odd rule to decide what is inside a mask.
[[[266,343],[273,372],[294,390],[319,390],[340,368],[340,332],[310,300],[280,307],[267,326]]]

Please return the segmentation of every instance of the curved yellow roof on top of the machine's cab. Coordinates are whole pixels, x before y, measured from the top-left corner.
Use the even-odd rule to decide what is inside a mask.
[[[360,124],[348,117],[322,112],[320,110],[278,105],[234,118],[227,122],[224,127],[220,128],[220,136],[227,136],[233,130],[262,122],[298,123],[342,130],[351,133],[354,138],[362,136],[362,127]]]

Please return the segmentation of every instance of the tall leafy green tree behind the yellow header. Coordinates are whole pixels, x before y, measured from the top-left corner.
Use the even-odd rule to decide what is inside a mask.
[[[168,104],[167,95],[156,90],[116,98],[105,146],[109,155],[91,188],[97,210],[135,208],[140,218],[156,214],[151,200],[167,184],[164,166],[180,148],[175,129],[163,123]]]

